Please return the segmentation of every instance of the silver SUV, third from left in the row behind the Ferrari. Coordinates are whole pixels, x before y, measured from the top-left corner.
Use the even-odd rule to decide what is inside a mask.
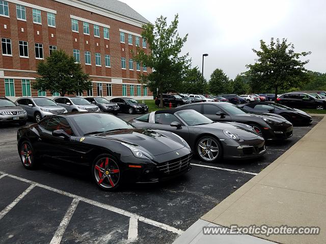
[[[67,109],[68,112],[85,112],[85,111],[93,111],[99,112],[100,109],[91,104],[84,98],[79,97],[58,97],[53,99],[60,106]]]

